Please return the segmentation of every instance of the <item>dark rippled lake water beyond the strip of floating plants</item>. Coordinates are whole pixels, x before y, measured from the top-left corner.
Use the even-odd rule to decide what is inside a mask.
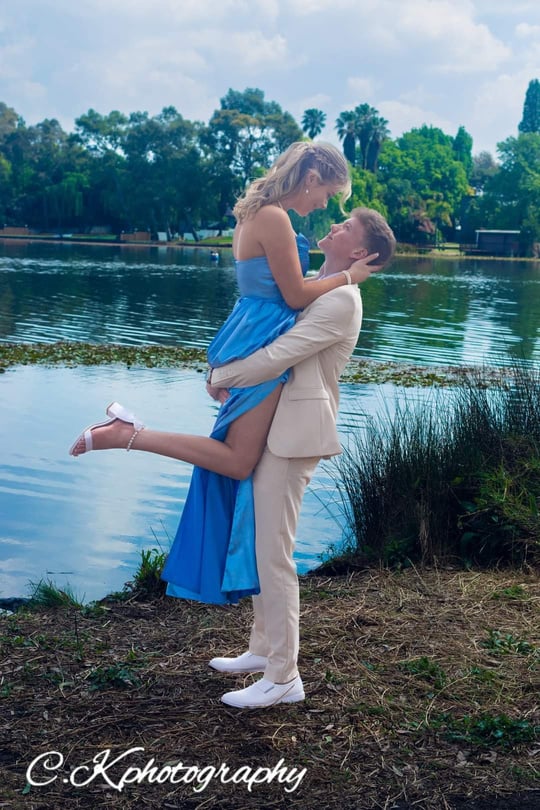
[[[0,340],[205,347],[229,313],[230,251],[0,244]],[[363,287],[356,353],[462,365],[538,360],[540,264],[397,258]]]

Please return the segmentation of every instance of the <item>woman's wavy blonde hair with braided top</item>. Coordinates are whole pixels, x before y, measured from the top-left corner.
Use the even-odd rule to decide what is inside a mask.
[[[264,177],[254,180],[238,200],[233,210],[237,222],[254,216],[263,205],[295,194],[309,171],[317,174],[320,183],[337,186],[342,208],[351,196],[349,167],[344,155],[329,143],[297,141],[278,157]]]

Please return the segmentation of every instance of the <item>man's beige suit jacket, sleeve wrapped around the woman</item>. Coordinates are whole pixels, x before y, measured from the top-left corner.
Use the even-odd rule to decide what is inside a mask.
[[[292,367],[268,434],[269,449],[285,458],[337,455],[338,381],[361,325],[358,287],[338,287],[306,307],[293,328],[269,346],[215,368],[212,384],[243,388]]]

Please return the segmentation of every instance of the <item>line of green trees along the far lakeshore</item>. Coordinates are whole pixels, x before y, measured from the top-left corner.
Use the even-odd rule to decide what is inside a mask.
[[[0,102],[0,226],[180,235],[225,229],[246,184],[325,124],[318,109],[306,110],[298,124],[258,88],[230,89],[208,123],[189,121],[173,106],[155,116],[90,109],[71,133],[55,119],[27,126]],[[464,127],[449,135],[425,124],[391,138],[388,121],[368,104],[340,113],[335,129],[351,164],[351,204],[381,211],[399,241],[468,243],[479,228],[515,229],[523,253],[538,250],[538,79],[529,84],[516,134],[497,145],[497,159],[473,155]],[[315,212],[308,234],[320,236],[339,216],[337,204]]]

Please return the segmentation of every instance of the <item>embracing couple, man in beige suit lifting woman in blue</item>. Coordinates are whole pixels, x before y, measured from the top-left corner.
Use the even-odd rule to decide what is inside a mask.
[[[355,209],[319,243],[317,278],[304,279],[307,246],[286,210],[305,216],[348,188],[338,150],[293,144],[237,204],[241,298],[209,349],[209,393],[222,402],[210,438],[145,429],[114,403],[109,420],[71,448],[142,450],[196,465],[163,576],[174,596],[223,603],[253,595],[249,651],[211,661],[222,672],[264,673],[223,695],[239,708],[304,698],[292,560],[298,514],[319,459],[340,452],[338,379],[361,324],[355,285],[391,258],[395,240],[380,214]]]

